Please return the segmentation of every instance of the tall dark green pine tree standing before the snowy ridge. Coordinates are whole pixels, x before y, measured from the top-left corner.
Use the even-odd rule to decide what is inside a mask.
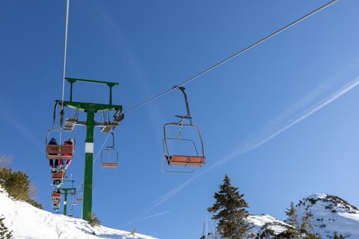
[[[228,175],[224,177],[224,183],[220,185],[220,191],[215,193],[216,202],[207,210],[213,212],[212,219],[219,220],[217,230],[223,238],[240,239],[247,236],[252,228],[248,223],[247,202],[243,194],[239,194],[238,188],[231,186]]]

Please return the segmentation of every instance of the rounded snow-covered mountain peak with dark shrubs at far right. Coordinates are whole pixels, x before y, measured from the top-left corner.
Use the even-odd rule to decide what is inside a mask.
[[[295,208],[298,219],[306,212],[313,214],[313,227],[321,238],[331,238],[336,231],[359,239],[359,210],[339,197],[317,193],[300,200]]]

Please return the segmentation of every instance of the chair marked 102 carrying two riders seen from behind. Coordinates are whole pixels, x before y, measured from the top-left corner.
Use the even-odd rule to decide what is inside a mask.
[[[72,139],[74,140],[72,145],[63,145],[63,144],[59,144],[59,145],[51,145],[49,144],[51,137],[51,133],[52,132],[59,132],[59,138],[60,141],[62,141],[63,137],[62,134],[64,132],[70,132],[70,134],[72,134]],[[55,159],[55,160],[60,160],[60,159],[67,159],[70,160],[74,157],[75,155],[75,145],[76,145],[76,137],[75,137],[75,132],[73,130],[64,130],[64,129],[51,129],[47,132],[46,135],[46,158],[47,159]]]

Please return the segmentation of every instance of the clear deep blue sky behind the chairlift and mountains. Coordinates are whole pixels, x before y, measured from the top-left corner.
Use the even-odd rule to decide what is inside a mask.
[[[118,81],[114,103],[130,109],[326,1],[70,2],[66,76]],[[29,174],[46,210],[51,180],[44,141],[62,94],[65,8],[65,0],[3,1],[0,8],[0,152],[12,154],[12,167]],[[198,173],[287,126],[359,76],[358,9],[356,0],[339,1],[186,86],[207,151]],[[107,101],[106,88],[75,90],[76,100]],[[101,171],[95,163],[93,211],[103,225],[159,238],[199,238],[225,174],[252,214],[284,219],[290,201],[313,193],[359,205],[359,87],[200,175],[160,170],[162,126],[184,112],[181,97],[173,92],[126,115],[116,129],[117,171]],[[77,156],[68,174],[79,183],[85,131],[76,132]],[[96,131],[95,150],[104,138]],[[157,201],[163,203],[153,208]],[[144,212],[142,217],[168,213],[124,225]],[[81,206],[75,216],[81,217]]]

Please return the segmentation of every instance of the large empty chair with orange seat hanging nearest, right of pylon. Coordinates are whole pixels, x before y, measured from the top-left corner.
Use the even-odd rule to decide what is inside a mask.
[[[185,98],[185,104],[187,109],[187,115],[175,115],[175,117],[179,118],[179,122],[172,122],[165,124],[163,126],[163,160],[162,160],[162,171],[165,173],[193,173],[192,171],[168,171],[164,169],[165,161],[168,163],[168,166],[183,166],[183,167],[202,167],[206,161],[206,156],[204,154],[204,146],[202,141],[202,136],[200,135],[200,129],[192,124],[192,117],[189,113],[189,104],[187,100],[187,95],[185,93],[184,87],[178,87],[178,89],[181,90],[183,93],[183,96]],[[168,137],[168,130],[169,127],[175,127],[178,128],[178,135],[177,137]],[[181,134],[185,128],[194,128],[196,130],[196,134],[198,135],[198,139],[200,141],[200,148],[198,149],[195,141],[193,139],[185,139],[181,137]],[[169,147],[169,141],[174,142],[185,142],[192,145],[192,153],[191,154],[171,154],[170,147]]]

